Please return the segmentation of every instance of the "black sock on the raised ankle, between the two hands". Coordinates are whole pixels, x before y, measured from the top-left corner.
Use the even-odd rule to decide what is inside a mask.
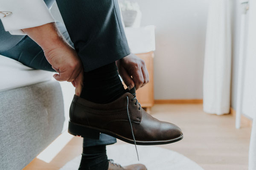
[[[125,93],[116,63],[84,72],[84,87],[80,97],[95,103],[109,103]]]

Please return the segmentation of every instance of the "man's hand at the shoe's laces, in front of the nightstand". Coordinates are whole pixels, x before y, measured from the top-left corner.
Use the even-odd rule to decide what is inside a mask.
[[[145,62],[134,54],[130,54],[116,61],[118,73],[129,89],[143,87],[149,82],[148,70]]]

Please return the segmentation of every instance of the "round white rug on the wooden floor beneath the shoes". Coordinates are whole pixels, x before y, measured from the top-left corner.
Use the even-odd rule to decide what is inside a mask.
[[[156,146],[137,146],[140,161],[132,144],[107,146],[108,159],[126,166],[145,164],[148,170],[203,170],[197,163],[180,153]],[[67,162],[60,170],[78,170],[81,156]]]

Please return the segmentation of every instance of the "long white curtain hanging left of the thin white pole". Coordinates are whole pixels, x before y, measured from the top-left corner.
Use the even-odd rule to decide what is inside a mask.
[[[204,57],[204,111],[221,115],[230,111],[231,1],[211,0]]]

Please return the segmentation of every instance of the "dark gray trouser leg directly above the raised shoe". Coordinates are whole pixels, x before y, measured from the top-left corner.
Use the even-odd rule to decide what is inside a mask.
[[[117,0],[56,0],[84,71],[130,54]]]

